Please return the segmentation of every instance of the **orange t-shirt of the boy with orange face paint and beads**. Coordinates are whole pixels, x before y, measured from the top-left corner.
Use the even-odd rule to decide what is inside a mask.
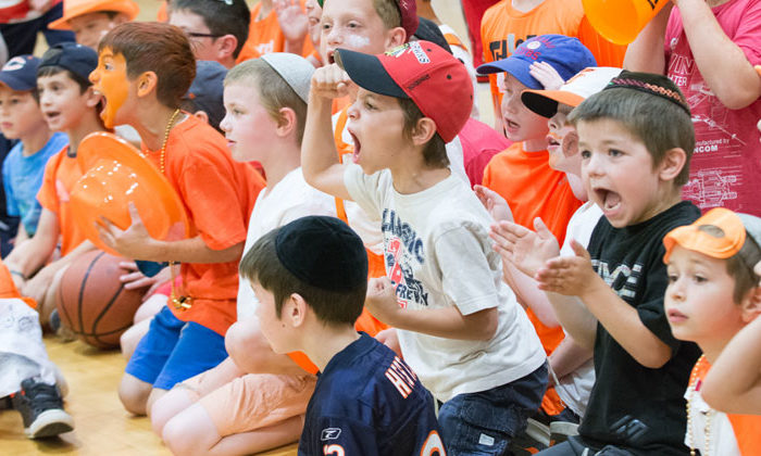
[[[160,151],[142,152],[159,167]],[[191,236],[200,236],[213,250],[246,240],[247,224],[264,179],[255,169],[238,163],[225,138],[209,124],[188,116],[177,124],[166,142],[166,178],[183,201],[191,223]],[[227,263],[183,263],[183,295],[192,306],[174,315],[195,321],[222,335],[237,318],[238,259]]]

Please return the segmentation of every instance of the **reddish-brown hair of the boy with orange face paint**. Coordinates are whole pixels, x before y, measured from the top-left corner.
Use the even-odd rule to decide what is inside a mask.
[[[145,72],[158,77],[157,98],[175,109],[196,77],[196,58],[187,37],[179,28],[159,22],[127,22],[114,27],[98,45],[98,52],[110,48],[124,55],[127,77],[135,79]]]

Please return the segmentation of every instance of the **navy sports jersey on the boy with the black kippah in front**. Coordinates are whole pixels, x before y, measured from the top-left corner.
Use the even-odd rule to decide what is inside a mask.
[[[320,375],[299,442],[300,456],[445,456],[442,448],[428,390],[365,333]]]

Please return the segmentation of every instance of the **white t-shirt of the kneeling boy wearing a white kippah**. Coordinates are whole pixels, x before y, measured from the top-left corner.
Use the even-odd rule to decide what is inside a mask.
[[[336,216],[336,200],[327,193],[310,187],[301,168],[288,173],[271,191],[262,189],[251,212],[244,252],[259,238],[273,229],[307,215]],[[244,253],[245,254],[245,253]],[[238,319],[257,311],[257,296],[246,280],[238,283]]]

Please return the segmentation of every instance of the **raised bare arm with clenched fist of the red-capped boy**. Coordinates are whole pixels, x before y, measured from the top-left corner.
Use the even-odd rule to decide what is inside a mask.
[[[333,139],[333,99],[348,93],[349,76],[336,64],[314,71],[309,92],[309,110],[301,144],[304,180],[317,190],[341,200],[351,200],[344,185],[344,166]]]

